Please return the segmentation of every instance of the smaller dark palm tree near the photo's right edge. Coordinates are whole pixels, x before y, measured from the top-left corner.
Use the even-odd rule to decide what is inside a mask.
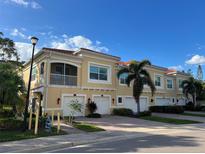
[[[196,98],[197,95],[200,95],[203,89],[201,82],[195,80],[193,77],[190,77],[188,80],[184,80],[182,82],[182,89],[187,98],[189,98],[189,95],[192,96],[194,107],[197,107],[199,104],[197,104]]]

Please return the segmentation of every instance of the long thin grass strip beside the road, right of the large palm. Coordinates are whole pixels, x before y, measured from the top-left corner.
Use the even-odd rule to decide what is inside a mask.
[[[164,123],[176,124],[176,125],[201,123],[199,121],[165,118],[165,117],[159,117],[159,116],[144,116],[144,117],[140,117],[140,119],[164,122]]]

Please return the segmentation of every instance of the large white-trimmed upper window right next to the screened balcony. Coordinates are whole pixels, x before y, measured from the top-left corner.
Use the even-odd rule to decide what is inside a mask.
[[[90,65],[90,80],[108,81],[109,68],[99,65]]]

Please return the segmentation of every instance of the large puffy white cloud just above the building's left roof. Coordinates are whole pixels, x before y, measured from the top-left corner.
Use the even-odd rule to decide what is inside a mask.
[[[100,46],[101,42],[96,41],[96,43],[93,43],[90,39],[81,35],[68,37],[66,34],[63,34],[62,37],[64,38],[63,41],[55,40],[51,43],[51,47],[72,50],[77,50],[79,48],[87,48],[99,52],[108,52],[109,50],[105,46]]]

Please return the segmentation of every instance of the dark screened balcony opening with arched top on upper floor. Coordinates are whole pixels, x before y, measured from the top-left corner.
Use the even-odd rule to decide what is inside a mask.
[[[50,84],[77,85],[77,67],[64,63],[51,63]]]

